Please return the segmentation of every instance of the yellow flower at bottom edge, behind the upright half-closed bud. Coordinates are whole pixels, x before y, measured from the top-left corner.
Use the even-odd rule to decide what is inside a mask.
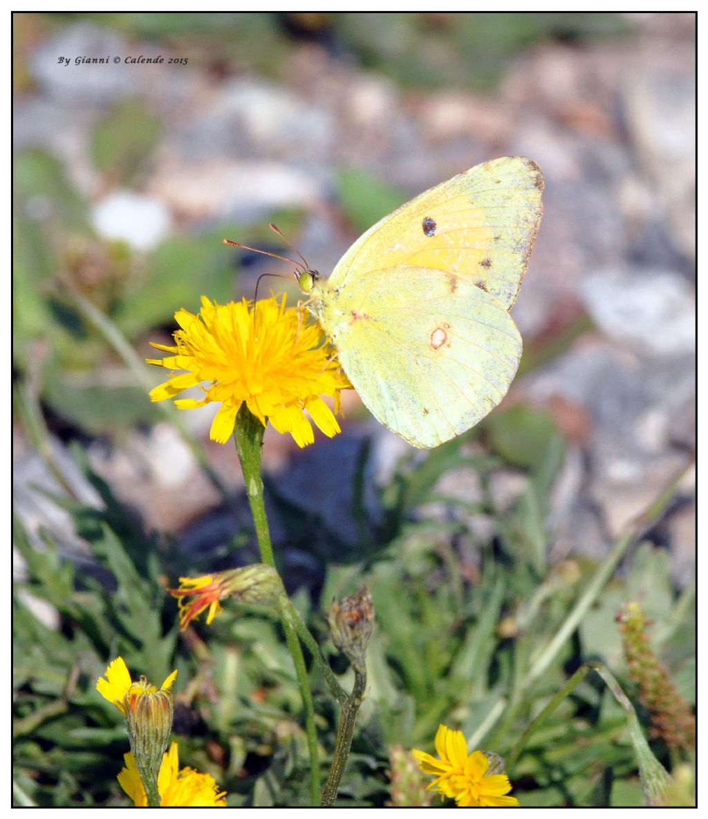
[[[123,759],[125,767],[118,775],[119,784],[138,808],[144,808],[147,795],[132,753],[124,754]],[[226,791],[219,790],[211,774],[190,767],[179,770],[176,742],[164,753],[157,789],[161,808],[226,808]]]

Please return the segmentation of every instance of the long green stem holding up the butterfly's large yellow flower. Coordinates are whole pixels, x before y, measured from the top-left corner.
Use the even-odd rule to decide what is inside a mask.
[[[256,528],[258,549],[261,552],[262,562],[276,568],[271,533],[268,529],[266,505],[263,499],[261,456],[265,429],[262,423],[250,412],[249,408],[242,404],[236,417],[234,430],[236,451],[239,454],[241,469],[244,472],[246,495],[248,495],[251,514],[253,514],[253,524]],[[285,595],[282,596],[285,597]],[[288,616],[287,607],[281,603],[279,610],[280,622],[282,622],[285,631],[285,640],[293,658],[295,675],[298,678],[302,706],[305,709],[305,731],[307,732],[307,747],[310,752],[311,795],[313,803],[317,806],[320,803],[320,762],[317,754],[315,705],[312,702],[310,681],[307,679],[307,667],[305,666],[305,658],[302,654],[302,646],[298,640],[297,631],[295,631],[291,618]]]

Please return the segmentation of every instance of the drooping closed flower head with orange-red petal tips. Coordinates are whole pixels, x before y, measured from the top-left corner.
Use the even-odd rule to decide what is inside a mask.
[[[180,587],[169,589],[169,593],[179,600],[180,628],[184,631],[207,608],[207,625],[212,622],[222,610],[219,601],[226,597],[242,603],[270,603],[281,588],[276,569],[266,563],[253,563],[202,577],[180,577]]]

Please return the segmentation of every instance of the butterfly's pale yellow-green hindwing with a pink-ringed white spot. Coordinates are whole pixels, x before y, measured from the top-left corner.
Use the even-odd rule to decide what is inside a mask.
[[[320,322],[371,413],[414,446],[472,427],[509,389],[521,337],[504,307],[454,273],[374,269],[323,288]]]

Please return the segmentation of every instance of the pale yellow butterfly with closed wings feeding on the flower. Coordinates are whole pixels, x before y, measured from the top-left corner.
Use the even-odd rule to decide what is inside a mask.
[[[413,446],[465,432],[509,390],[522,353],[509,310],[543,188],[525,156],[475,165],[374,224],[329,278],[296,272],[352,387]]]

